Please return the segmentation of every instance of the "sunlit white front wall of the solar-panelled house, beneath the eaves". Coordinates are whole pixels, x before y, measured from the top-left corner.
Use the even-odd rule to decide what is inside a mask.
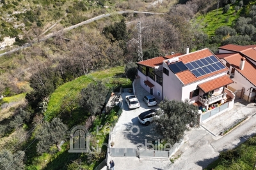
[[[205,81],[212,80],[212,79],[214,79],[214,78],[218,78],[218,77],[223,76],[223,75],[225,75],[225,74],[226,74],[226,73],[217,74],[217,75],[212,76],[212,77],[209,77],[209,78],[207,78],[207,79],[200,80],[200,81],[197,81],[197,82],[192,83],[192,84],[189,84],[189,85],[185,85],[185,86],[182,88],[182,101],[184,101],[185,99],[189,99],[190,92],[192,92],[193,90],[196,90],[196,87],[197,87],[199,84],[204,83]],[[223,90],[223,89],[222,89],[222,90]],[[214,92],[218,92],[218,91],[221,91],[221,89],[214,90]],[[222,92],[222,91],[221,91],[221,92]],[[202,92],[202,90],[200,90],[200,94],[199,94],[199,95],[202,95],[202,94],[204,94],[204,92]],[[198,96],[189,99],[189,102],[190,102],[190,103],[195,103],[196,101],[198,101]]]

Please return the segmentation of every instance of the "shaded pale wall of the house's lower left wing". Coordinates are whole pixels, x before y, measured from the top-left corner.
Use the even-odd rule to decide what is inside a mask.
[[[150,81],[150,83],[152,83],[154,85],[154,87],[152,87],[153,89],[153,95],[159,99],[162,100],[162,86],[159,85],[159,83],[157,83],[156,81],[152,80],[150,77],[145,76],[143,73],[141,73],[140,71],[138,71],[138,76],[140,76],[140,85],[141,87],[143,87],[145,90],[147,90],[148,93],[150,93],[150,88],[144,84],[144,81],[148,80]],[[160,96],[158,96],[157,91],[160,92]]]

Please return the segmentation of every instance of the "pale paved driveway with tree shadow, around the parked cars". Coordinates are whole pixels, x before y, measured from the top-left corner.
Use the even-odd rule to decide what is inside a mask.
[[[144,103],[141,96],[145,96],[147,94],[148,92],[146,90],[136,92],[136,96],[138,96],[140,101],[140,108],[129,110],[125,103],[125,96],[129,96],[131,93],[122,93],[122,104],[124,110],[112,134],[112,139],[115,142],[115,148],[137,148],[137,145],[140,143],[145,144],[145,139],[147,139],[147,141],[161,139],[161,136],[154,131],[154,125],[150,124],[145,126],[140,124],[138,120],[138,115],[143,111],[158,108],[158,106],[148,107],[147,104]]]

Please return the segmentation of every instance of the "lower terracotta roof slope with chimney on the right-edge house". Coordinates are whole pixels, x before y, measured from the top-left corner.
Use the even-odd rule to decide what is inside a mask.
[[[256,66],[248,59],[246,59],[244,63],[244,69],[239,69],[242,57],[242,55],[236,53],[230,55],[229,57],[225,57],[224,60],[226,60],[231,66],[233,66],[239,73],[241,73],[247,80],[249,80],[256,87]]]

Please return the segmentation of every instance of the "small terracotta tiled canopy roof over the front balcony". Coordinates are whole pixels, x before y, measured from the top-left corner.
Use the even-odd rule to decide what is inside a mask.
[[[227,75],[224,75],[218,78],[214,78],[213,80],[206,81],[205,83],[201,83],[198,85],[198,87],[207,93],[231,83],[234,83],[234,81],[231,80]]]

